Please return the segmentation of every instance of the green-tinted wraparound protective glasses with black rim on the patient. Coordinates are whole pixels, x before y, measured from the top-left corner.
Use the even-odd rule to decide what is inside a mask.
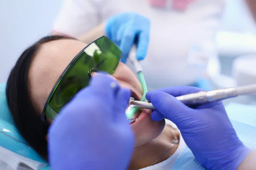
[[[91,72],[113,74],[121,55],[118,46],[105,36],[87,45],[70,62],[52,88],[44,105],[42,121],[46,117],[53,120],[61,108],[88,85]]]

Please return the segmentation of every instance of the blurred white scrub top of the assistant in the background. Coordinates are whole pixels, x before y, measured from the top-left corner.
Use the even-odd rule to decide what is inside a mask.
[[[175,7],[185,1],[185,9]],[[154,5],[160,2],[162,7]],[[142,14],[151,20],[147,57],[141,62],[149,90],[192,85],[204,76],[209,59],[217,56],[215,34],[224,4],[225,0],[64,0],[54,29],[78,37],[119,12]]]

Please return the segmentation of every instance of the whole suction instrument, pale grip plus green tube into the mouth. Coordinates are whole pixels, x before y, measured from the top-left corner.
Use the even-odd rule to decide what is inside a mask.
[[[132,48],[131,48],[131,51],[130,51],[130,55],[128,57],[128,59],[130,60],[130,62],[132,63],[132,65],[134,65],[134,68],[138,74],[138,77],[139,77],[139,80],[140,80],[140,84],[142,86],[142,90],[143,90],[143,96],[142,98],[140,99],[141,102],[145,101],[146,100],[146,94],[148,92],[148,89],[147,89],[147,85],[146,85],[146,82],[145,82],[145,78],[143,76],[143,70],[142,70],[142,67],[140,65],[140,62],[138,61],[138,59],[136,58],[136,46],[133,45]],[[134,107],[132,105],[130,105],[127,110],[126,110],[126,117],[127,117],[127,120],[128,121],[131,121],[131,122],[135,122],[135,119],[131,118],[134,113],[139,109],[139,107]]]

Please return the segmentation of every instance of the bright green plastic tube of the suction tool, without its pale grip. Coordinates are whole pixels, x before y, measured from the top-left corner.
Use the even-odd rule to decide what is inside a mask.
[[[140,99],[140,101],[145,101],[145,100],[146,100],[146,94],[147,94],[147,92],[148,92],[148,89],[147,89],[147,85],[146,85],[145,78],[144,78],[144,75],[143,75],[143,72],[142,72],[142,71],[139,71],[139,72],[138,72],[138,77],[139,77],[140,84],[141,84],[141,87],[142,87],[142,90],[143,90],[143,96],[142,96],[142,98]],[[135,106],[133,106],[133,105],[128,105],[128,108],[126,109],[126,117],[127,117],[127,120],[129,120],[130,122],[135,122],[135,120],[132,118],[132,116],[134,115],[134,113],[135,113],[138,109],[139,109],[138,107],[135,107]]]

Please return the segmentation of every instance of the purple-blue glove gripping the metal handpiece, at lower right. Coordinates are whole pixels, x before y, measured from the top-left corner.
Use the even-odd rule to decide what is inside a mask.
[[[195,158],[210,170],[236,170],[249,153],[236,135],[222,102],[212,102],[195,109],[174,96],[202,91],[199,88],[177,86],[151,91],[146,98],[152,102],[153,120],[167,119],[179,128]]]

